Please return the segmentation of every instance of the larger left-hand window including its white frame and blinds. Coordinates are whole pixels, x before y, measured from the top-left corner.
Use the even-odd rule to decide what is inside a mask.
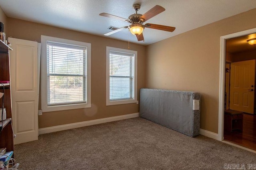
[[[90,107],[90,43],[41,36],[42,110]]]

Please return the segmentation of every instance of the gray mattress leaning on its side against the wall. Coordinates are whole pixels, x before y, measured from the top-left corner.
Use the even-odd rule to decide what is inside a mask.
[[[199,134],[198,92],[140,89],[140,117],[188,136]]]

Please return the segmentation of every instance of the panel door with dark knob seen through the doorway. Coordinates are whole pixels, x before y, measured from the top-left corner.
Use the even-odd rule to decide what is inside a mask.
[[[255,59],[231,63],[230,109],[254,114]]]

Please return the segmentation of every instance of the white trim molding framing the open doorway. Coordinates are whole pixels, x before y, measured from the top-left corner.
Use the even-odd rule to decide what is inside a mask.
[[[245,30],[241,32],[236,32],[234,34],[229,34],[220,37],[220,81],[219,81],[219,120],[218,120],[218,139],[224,140],[224,94],[225,94],[225,63],[226,63],[226,40],[231,38],[236,38],[240,36],[245,36],[248,34],[256,33],[256,28]]]

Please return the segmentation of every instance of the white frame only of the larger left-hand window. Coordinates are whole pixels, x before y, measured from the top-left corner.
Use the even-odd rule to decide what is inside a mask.
[[[86,65],[86,103],[71,103],[71,104],[57,104],[57,105],[48,105],[47,97],[47,42],[62,43],[67,45],[78,45],[86,47],[87,53],[87,65]],[[71,109],[82,109],[91,107],[91,44],[86,42],[78,42],[74,40],[67,40],[63,38],[56,38],[50,36],[41,35],[41,109],[43,112],[51,111],[63,111]]]

